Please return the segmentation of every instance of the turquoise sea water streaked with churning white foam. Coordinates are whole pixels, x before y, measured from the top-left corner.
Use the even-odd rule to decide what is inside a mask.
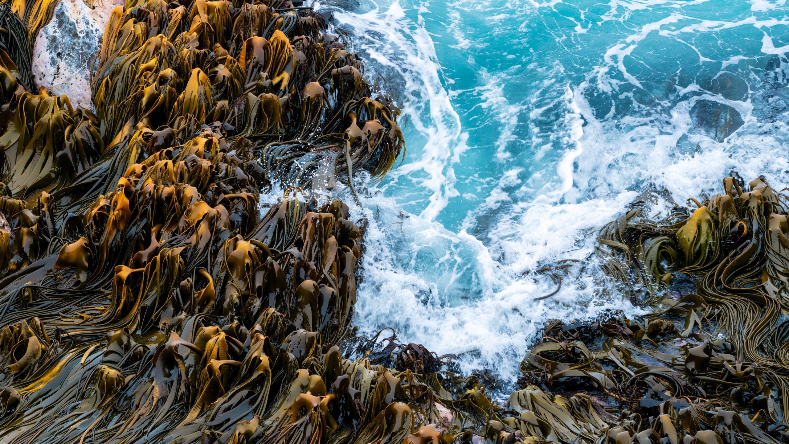
[[[514,380],[548,319],[638,312],[590,254],[642,192],[657,213],[731,171],[789,182],[785,0],[316,6],[406,137],[353,209],[370,220],[359,333],[391,327]],[[538,270],[567,259],[585,267],[537,300],[557,288]]]

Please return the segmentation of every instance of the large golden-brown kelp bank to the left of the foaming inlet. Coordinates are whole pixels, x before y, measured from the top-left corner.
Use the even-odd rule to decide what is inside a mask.
[[[423,348],[388,369],[343,358],[364,221],[297,187],[261,214],[271,179],[327,193],[402,152],[398,110],[324,27],[290,2],[129,3],[95,112],[34,93],[0,52],[3,442],[482,430],[495,408],[477,378],[426,371]]]

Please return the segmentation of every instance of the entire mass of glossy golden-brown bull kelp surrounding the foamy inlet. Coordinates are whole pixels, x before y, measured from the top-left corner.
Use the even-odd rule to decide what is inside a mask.
[[[0,4],[2,442],[789,439],[789,201],[765,180],[603,228],[604,271],[658,308],[548,322],[493,402],[490,372],[353,337],[366,221],[326,196],[356,198],[353,172],[380,178],[404,147],[323,16],[130,0],[91,111],[32,92],[52,7]]]

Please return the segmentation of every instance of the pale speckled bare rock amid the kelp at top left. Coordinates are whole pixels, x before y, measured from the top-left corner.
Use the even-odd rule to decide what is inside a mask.
[[[112,9],[123,4],[120,0],[104,0],[91,8],[84,0],[60,0],[52,20],[41,28],[33,47],[36,90],[43,86],[54,95],[69,96],[73,107],[93,109],[92,62],[101,49]]]

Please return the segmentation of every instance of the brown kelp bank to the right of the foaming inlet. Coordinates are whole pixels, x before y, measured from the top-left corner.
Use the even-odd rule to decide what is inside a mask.
[[[514,442],[784,442],[789,361],[786,197],[765,179],[676,205],[643,201],[600,230],[604,271],[641,318],[550,322],[527,353]]]

